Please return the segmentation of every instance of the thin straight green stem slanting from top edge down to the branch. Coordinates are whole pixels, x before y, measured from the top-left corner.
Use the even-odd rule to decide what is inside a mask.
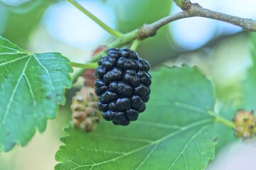
[[[123,35],[122,33],[120,33],[118,30],[114,30],[113,28],[110,28],[109,26],[107,26],[107,24],[103,23],[99,18],[97,18],[92,13],[87,11],[87,9],[83,8],[80,4],[78,4],[77,1],[75,1],[75,0],[67,0],[67,1],[70,4],[72,4],[73,6],[75,6],[76,8],[78,8],[80,11],[82,11],[82,13],[85,13],[86,16],[91,18],[92,21],[95,21],[95,23],[97,23],[100,27],[102,27],[104,30],[106,30],[107,33],[110,33],[110,35],[113,35],[116,38],[122,37],[122,35]]]

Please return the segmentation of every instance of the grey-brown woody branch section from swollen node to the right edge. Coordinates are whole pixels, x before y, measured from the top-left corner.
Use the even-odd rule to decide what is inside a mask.
[[[235,26],[240,26],[244,30],[256,32],[256,22],[252,19],[239,18],[237,16],[230,16],[225,13],[210,11],[209,9],[203,8],[199,4],[191,4],[190,1],[183,1],[183,5],[181,6],[181,8],[183,9],[183,11],[180,13],[166,16],[165,18],[161,18],[159,21],[151,24],[144,24],[142,28],[139,28],[136,38],[143,40],[144,38],[154,36],[156,35],[156,31],[162,26],[165,26],[167,23],[171,23],[172,21],[176,21],[182,18],[191,18],[195,16],[224,21],[226,23],[231,23]]]

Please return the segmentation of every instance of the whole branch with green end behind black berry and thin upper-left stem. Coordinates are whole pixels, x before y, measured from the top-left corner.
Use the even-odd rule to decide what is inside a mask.
[[[74,4],[75,0],[68,0],[70,3]],[[116,30],[114,30],[114,33],[112,31],[109,31],[112,28],[105,28],[109,33],[112,33],[113,35],[117,33],[118,35],[115,35],[117,40],[112,42],[108,47],[122,47],[123,45],[127,45],[128,43],[132,42],[133,40],[139,39],[143,40],[144,38],[148,38],[151,36],[156,35],[157,30],[161,28],[162,26],[165,26],[167,23],[171,23],[172,21],[177,21],[182,18],[191,18],[195,16],[200,16],[203,18],[211,18],[214,20],[218,21],[224,21],[227,23],[231,23],[235,26],[240,26],[244,30],[250,30],[256,32],[256,22],[253,21],[252,19],[247,19],[247,18],[239,18],[237,16],[230,16],[225,13],[218,13],[215,11],[210,11],[209,9],[203,8],[199,4],[191,4],[191,1],[189,0],[182,0],[182,3],[180,4],[181,0],[176,0],[175,2],[179,4],[181,9],[183,10],[180,13],[175,13],[174,15],[171,16],[166,16],[165,18],[161,18],[159,21],[156,21],[151,24],[144,24],[139,29],[132,30],[129,33],[121,34],[117,33]],[[84,13],[88,13],[85,8],[81,8],[77,4],[75,4],[75,7],[79,8],[81,11]],[[92,14],[90,14],[92,15]],[[89,16],[90,16],[89,15]],[[96,19],[94,16],[90,16],[96,23],[98,23],[100,26],[102,26],[102,23],[98,21],[99,19]],[[105,26],[105,24],[103,24]],[[106,27],[106,26],[105,26]],[[105,53],[105,50],[100,52],[98,55],[96,55],[92,60],[90,60],[89,63],[92,62],[97,62],[97,60]],[[78,69],[77,72],[73,73],[73,80],[78,78],[78,76],[82,73],[82,71],[85,70],[85,68],[80,68]]]

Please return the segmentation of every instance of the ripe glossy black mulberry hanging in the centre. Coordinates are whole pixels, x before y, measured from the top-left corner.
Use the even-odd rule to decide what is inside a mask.
[[[95,94],[105,120],[128,125],[137,120],[149,101],[151,75],[149,62],[127,48],[111,48],[98,61]]]

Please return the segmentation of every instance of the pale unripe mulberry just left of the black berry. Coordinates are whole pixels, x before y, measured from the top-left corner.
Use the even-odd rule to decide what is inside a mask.
[[[85,132],[95,130],[102,117],[97,107],[98,101],[94,89],[85,86],[73,97],[71,110],[75,128],[81,128]]]

